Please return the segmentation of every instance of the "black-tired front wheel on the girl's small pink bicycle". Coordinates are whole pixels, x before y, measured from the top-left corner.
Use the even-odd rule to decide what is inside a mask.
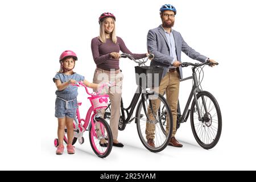
[[[101,126],[101,137],[105,137],[105,132],[107,133],[107,138],[108,138],[108,146],[107,147],[102,147],[100,146],[100,140],[98,140],[97,136],[94,136],[93,133],[96,133],[96,131],[92,131],[93,127],[92,125],[90,125],[89,127],[89,140],[90,140],[90,146],[93,149],[93,152],[100,158],[106,158],[106,156],[108,156],[110,154],[110,152],[112,151],[112,147],[113,147],[113,137],[112,137],[112,131],[110,129],[110,126],[108,125],[108,123],[105,121],[105,119],[103,118],[95,118],[97,122],[100,123]],[[95,122],[93,120],[93,122]],[[95,124],[95,123],[94,123]],[[94,125],[96,126],[96,125]],[[98,129],[95,129],[98,130]],[[104,130],[104,134],[102,134]],[[97,134],[96,134],[97,135]],[[98,148],[97,148],[98,147]],[[103,149],[106,149],[105,151],[103,151]]]

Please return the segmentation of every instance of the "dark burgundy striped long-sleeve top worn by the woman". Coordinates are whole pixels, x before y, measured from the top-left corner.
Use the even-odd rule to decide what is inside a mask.
[[[102,43],[98,37],[92,39],[92,54],[93,60],[97,65],[97,68],[110,71],[110,69],[119,69],[119,59],[113,59],[110,56],[111,52],[129,53],[134,57],[134,59],[141,59],[146,57],[146,54],[131,53],[129,49],[125,46],[123,40],[117,37],[117,43],[113,43],[112,39],[106,39],[106,43]]]

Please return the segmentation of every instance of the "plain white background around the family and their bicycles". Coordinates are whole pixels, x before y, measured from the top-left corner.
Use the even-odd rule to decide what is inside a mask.
[[[76,144],[76,154],[55,155],[57,137],[56,86],[59,55],[72,49],[79,57],[75,71],[92,81],[95,64],[90,40],[98,36],[98,16],[116,18],[117,35],[134,53],[146,53],[146,35],[161,23],[159,8],[177,9],[174,29],[205,56],[220,63],[205,68],[203,89],[210,91],[222,112],[222,135],[217,146],[204,150],[195,141],[189,121],[176,138],[183,148],[168,146],[154,154],[139,140],[133,123],[119,132],[123,148],[113,147],[106,159],[89,144]],[[1,1],[1,125],[0,169],[178,170],[256,169],[255,167],[255,6],[253,1]],[[191,61],[183,54],[183,61]],[[127,106],[135,91],[135,64],[120,61],[125,75]],[[191,69],[183,69],[190,76]],[[180,85],[181,107],[192,82]],[[83,90],[79,99],[87,108]],[[85,109],[86,109],[85,108]]]

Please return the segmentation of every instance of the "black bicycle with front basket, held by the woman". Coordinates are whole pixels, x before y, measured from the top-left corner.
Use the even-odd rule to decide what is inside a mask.
[[[139,66],[135,67],[135,73],[137,74],[136,83],[138,85],[138,88],[134,94],[133,99],[131,100],[130,106],[125,108],[123,106],[123,100],[121,99],[121,117],[119,118],[118,129],[121,131],[125,130],[126,125],[131,123],[135,119],[138,135],[144,147],[146,147],[151,152],[160,152],[164,148],[166,148],[168,142],[170,141],[172,135],[173,121],[171,110],[170,107],[168,107],[166,99],[160,94],[148,89],[154,88],[154,86],[159,86],[163,73],[163,68],[147,67],[144,64],[146,63],[148,58],[152,58],[152,56],[154,55],[150,55],[146,59],[135,60],[134,57],[129,54],[121,54],[121,57],[128,57],[135,63],[138,63]],[[140,97],[141,100],[139,101]],[[152,100],[158,100],[161,107],[167,108],[165,117],[168,119],[164,126],[160,124],[160,113],[158,109],[154,109],[154,105],[152,105],[151,102]],[[133,113],[137,104],[138,106],[136,114],[135,117],[133,117]],[[110,115],[111,104],[109,103],[109,106],[106,108],[104,114],[104,119],[108,122],[110,120]],[[154,146],[152,146],[152,144],[148,144],[148,133],[146,130],[148,125],[150,124],[154,125]],[[163,127],[164,130],[162,130]]]

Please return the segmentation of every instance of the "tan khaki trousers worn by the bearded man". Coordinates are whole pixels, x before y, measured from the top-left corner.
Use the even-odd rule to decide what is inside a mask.
[[[166,92],[166,98],[168,105],[170,106],[172,112],[172,119],[174,121],[174,127],[172,129],[172,137],[176,134],[176,122],[177,122],[177,102],[179,99],[179,86],[180,86],[180,76],[178,71],[168,72],[166,76],[164,76],[161,80],[159,88],[154,89],[159,94],[163,95]],[[160,101],[159,100],[151,100],[152,109],[154,114],[157,113]],[[150,109],[148,109],[148,117],[151,121],[155,121],[154,115]],[[168,125],[167,121],[167,126]],[[166,129],[168,132],[168,128]],[[146,123],[146,139],[154,139],[155,138],[155,124],[154,123]]]

